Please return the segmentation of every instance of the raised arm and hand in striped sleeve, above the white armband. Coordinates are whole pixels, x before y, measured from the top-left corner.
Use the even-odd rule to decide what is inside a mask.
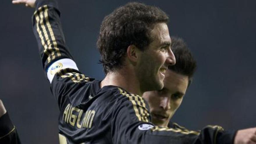
[[[13,3],[25,4],[26,6],[35,7],[36,9],[32,17],[33,31],[38,43],[42,65],[46,73],[48,72],[48,68],[55,61],[64,58],[68,58],[70,61],[73,61],[65,43],[60,22],[60,12],[56,1],[14,0]],[[77,69],[77,67],[69,68]],[[53,73],[55,74],[56,70],[51,72],[51,74]],[[47,74],[47,77],[49,79],[49,74]],[[49,80],[51,82],[51,79]]]

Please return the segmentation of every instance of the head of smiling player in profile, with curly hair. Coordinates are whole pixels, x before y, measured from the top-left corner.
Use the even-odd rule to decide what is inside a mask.
[[[161,9],[136,2],[107,15],[97,41],[104,72],[131,65],[143,91],[161,89],[166,68],[175,64],[167,22]]]

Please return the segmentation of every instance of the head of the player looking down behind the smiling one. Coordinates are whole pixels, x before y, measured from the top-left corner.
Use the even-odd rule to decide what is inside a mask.
[[[168,67],[162,90],[143,94],[150,106],[152,122],[162,127],[168,125],[179,108],[196,69],[196,61],[185,42],[181,38],[172,37],[171,39],[176,64]]]

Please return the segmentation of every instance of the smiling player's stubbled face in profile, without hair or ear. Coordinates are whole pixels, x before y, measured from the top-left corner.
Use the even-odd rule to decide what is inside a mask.
[[[175,64],[175,56],[170,48],[171,39],[165,23],[157,23],[151,31],[153,41],[140,54],[137,76],[141,90],[160,90],[168,65]]]

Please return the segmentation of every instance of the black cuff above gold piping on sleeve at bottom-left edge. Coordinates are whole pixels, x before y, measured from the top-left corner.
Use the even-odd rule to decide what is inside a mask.
[[[14,129],[14,125],[12,121],[10,120],[10,117],[8,113],[6,112],[4,115],[0,118],[0,138],[5,136],[6,134],[10,133]]]

